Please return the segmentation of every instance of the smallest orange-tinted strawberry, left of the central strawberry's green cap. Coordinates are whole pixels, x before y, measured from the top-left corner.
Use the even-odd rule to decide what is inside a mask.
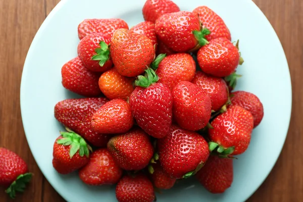
[[[122,76],[113,68],[100,76],[99,88],[109,99],[127,99],[134,90],[133,81],[133,78]]]

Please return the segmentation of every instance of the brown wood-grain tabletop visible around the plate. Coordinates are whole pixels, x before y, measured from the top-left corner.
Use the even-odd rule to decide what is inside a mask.
[[[22,68],[28,48],[43,20],[58,2],[59,0],[0,0],[0,146],[19,154],[34,173],[24,194],[18,194],[15,200],[18,202],[64,201],[43,177],[33,159],[22,126],[19,101]],[[290,127],[282,153],[268,178],[248,201],[302,201],[303,1],[254,2],[269,19],[283,45],[291,74],[293,103]],[[262,30],[256,39],[258,37],[262,37]],[[263,44],[256,45],[262,48]],[[0,188],[0,201],[12,201],[4,191],[4,188]]]

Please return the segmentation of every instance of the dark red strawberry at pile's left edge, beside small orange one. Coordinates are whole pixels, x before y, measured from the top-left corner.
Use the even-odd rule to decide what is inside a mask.
[[[98,86],[100,74],[89,71],[79,57],[64,64],[61,75],[63,87],[74,93],[87,97],[101,94]]]

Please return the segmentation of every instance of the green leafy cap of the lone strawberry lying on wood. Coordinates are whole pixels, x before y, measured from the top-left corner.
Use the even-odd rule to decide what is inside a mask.
[[[6,193],[9,194],[11,198],[16,197],[16,191],[23,192],[26,184],[30,181],[32,177],[32,173],[21,174],[17,177],[17,179],[5,190]]]

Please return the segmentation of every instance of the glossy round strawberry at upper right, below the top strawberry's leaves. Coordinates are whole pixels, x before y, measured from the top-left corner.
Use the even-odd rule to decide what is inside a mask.
[[[201,70],[217,77],[233,73],[238,67],[239,59],[238,49],[227,38],[215,38],[197,53]]]

